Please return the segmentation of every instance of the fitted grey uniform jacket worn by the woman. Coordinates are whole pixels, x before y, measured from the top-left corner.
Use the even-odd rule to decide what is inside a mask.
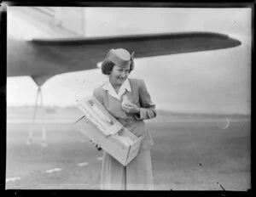
[[[154,143],[143,120],[156,116],[155,104],[152,102],[146,84],[142,79],[128,78],[127,80],[128,87],[126,86],[123,90],[120,87],[119,93],[121,92],[121,95],[119,95],[119,98],[114,97],[111,89],[106,88],[109,82],[108,84],[105,83],[101,87],[95,88],[93,95],[124,127],[133,132],[137,137],[143,137],[141,148],[148,149]],[[125,97],[131,103],[137,104],[140,109],[139,114],[128,114],[122,110],[121,103]]]

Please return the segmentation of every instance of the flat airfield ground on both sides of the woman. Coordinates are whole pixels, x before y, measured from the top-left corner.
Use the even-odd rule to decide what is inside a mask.
[[[102,152],[73,128],[70,117],[47,124],[42,147],[39,123],[34,142],[26,144],[30,123],[19,120],[31,114],[22,113],[8,113],[6,189],[100,189]],[[51,115],[57,120],[56,113],[46,118]],[[218,121],[161,115],[147,121],[154,138],[154,189],[221,190],[218,183],[226,190],[251,188],[250,120],[230,119],[226,129]]]

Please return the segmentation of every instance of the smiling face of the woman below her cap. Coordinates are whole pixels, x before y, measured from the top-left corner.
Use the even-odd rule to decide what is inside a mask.
[[[122,66],[114,65],[109,76],[109,82],[113,86],[121,86],[129,76],[130,65]]]

